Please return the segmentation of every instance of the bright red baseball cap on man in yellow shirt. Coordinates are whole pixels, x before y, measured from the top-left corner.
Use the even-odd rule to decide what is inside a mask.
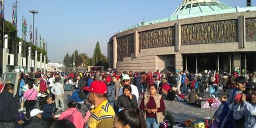
[[[106,94],[107,93],[107,85],[103,81],[93,81],[91,83],[91,86],[83,88],[86,91],[91,91],[94,93],[99,93],[99,94]]]

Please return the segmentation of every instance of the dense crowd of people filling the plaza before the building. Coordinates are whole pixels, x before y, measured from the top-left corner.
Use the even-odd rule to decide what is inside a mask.
[[[226,111],[234,127],[256,127],[256,72],[204,70],[199,73],[176,70],[96,71],[35,74],[20,73],[19,91],[14,85],[0,88],[0,127],[160,127],[165,119],[165,102],[196,104],[199,97],[221,98],[211,123],[226,127]],[[0,81],[1,82],[1,81]],[[65,89],[71,100],[65,109]],[[219,96],[223,90],[224,95]],[[227,94],[227,95],[226,95]],[[139,97],[142,99],[139,103]],[[240,96],[238,99],[237,96]],[[236,99],[235,99],[236,98]],[[1,101],[2,101],[1,100]],[[88,103],[88,104],[87,104]],[[21,118],[22,107],[25,117]],[[85,109],[83,116],[81,109]],[[60,115],[57,115],[60,112]],[[241,119],[242,118],[242,119]]]

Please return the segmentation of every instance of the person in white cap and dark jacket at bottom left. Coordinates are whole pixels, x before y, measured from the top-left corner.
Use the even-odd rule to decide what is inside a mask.
[[[30,112],[30,120],[29,120],[29,124],[27,126],[25,126],[25,128],[47,128],[49,127],[48,123],[42,119],[42,112],[39,109],[33,109]]]

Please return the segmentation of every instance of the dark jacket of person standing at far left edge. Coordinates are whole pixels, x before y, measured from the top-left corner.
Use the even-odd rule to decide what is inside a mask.
[[[18,112],[19,105],[18,99],[14,98],[8,91],[0,93],[0,122],[21,120]]]

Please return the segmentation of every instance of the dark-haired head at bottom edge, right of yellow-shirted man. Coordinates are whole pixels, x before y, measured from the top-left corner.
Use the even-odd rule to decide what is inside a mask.
[[[134,109],[125,109],[119,112],[114,119],[114,127],[146,128],[147,124],[145,122],[142,111],[136,107]]]

